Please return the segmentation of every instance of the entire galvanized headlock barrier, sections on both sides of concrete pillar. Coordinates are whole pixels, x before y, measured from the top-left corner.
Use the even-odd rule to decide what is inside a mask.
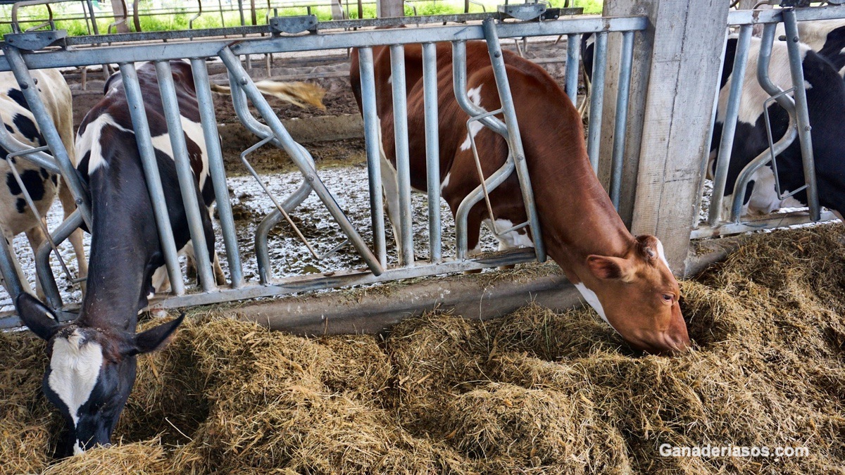
[[[537,4],[526,4],[537,5]],[[513,6],[511,6],[513,7]],[[155,221],[161,238],[163,254],[166,261],[166,270],[170,277],[172,292],[167,295],[158,296],[151,301],[155,308],[175,308],[199,304],[221,303],[226,301],[279,296],[294,292],[306,292],[331,287],[344,287],[351,285],[369,284],[379,281],[391,281],[419,276],[433,276],[456,271],[478,270],[488,267],[512,265],[531,261],[543,261],[546,259],[542,238],[539,233],[539,220],[534,206],[536,197],[532,194],[531,179],[528,176],[524,153],[522,150],[520,127],[515,117],[513,100],[510,96],[508,78],[504,74],[504,60],[502,57],[500,38],[526,38],[534,36],[563,36],[567,38],[566,55],[566,80],[565,91],[572,101],[576,101],[578,88],[578,67],[581,52],[581,36],[595,34],[594,61],[592,68],[592,83],[594,85],[591,99],[591,120],[587,131],[586,144],[587,152],[594,170],[598,170],[600,149],[610,147],[610,152],[605,148],[604,156],[610,157],[608,168],[609,179],[608,189],[613,205],[619,208],[621,199],[625,194],[633,193],[624,190],[623,166],[626,156],[626,137],[631,137],[630,126],[630,104],[643,102],[642,97],[637,94],[646,94],[647,88],[642,87],[647,81],[655,80],[647,77],[647,68],[636,68],[635,58],[635,35],[637,32],[646,30],[649,27],[649,19],[646,16],[629,17],[605,17],[588,18],[573,17],[567,19],[545,19],[542,17],[542,8],[528,7],[533,13],[530,20],[505,19],[504,14],[468,14],[468,15],[441,15],[434,17],[416,17],[411,19],[373,19],[373,20],[343,20],[335,22],[318,23],[313,16],[275,18],[270,19],[269,25],[249,26],[243,28],[226,28],[217,30],[193,30],[190,32],[145,32],[130,33],[123,35],[95,35],[83,37],[64,37],[53,30],[41,30],[34,32],[17,33],[6,35],[3,44],[4,55],[0,56],[0,71],[11,70],[18,80],[24,92],[26,101],[30,104],[32,112],[38,121],[41,134],[46,140],[46,147],[32,149],[27,145],[16,142],[5,130],[0,128],[0,146],[11,153],[5,157],[23,157],[26,160],[35,162],[52,172],[61,172],[65,183],[72,190],[79,206],[68,220],[64,221],[57,229],[52,230],[51,239],[37,251],[36,271],[46,294],[47,303],[50,307],[59,311],[63,318],[73,318],[74,303],[63,302],[56,284],[55,277],[49,265],[50,254],[55,247],[53,243],[61,243],[75,229],[83,223],[90,225],[90,203],[85,189],[74,166],[68,158],[68,153],[63,147],[55,126],[46,114],[41,98],[35,88],[31,87],[32,79],[29,71],[38,68],[64,68],[80,67],[101,64],[117,64],[123,74],[123,81],[126,88],[128,103],[131,106],[134,134],[138,139],[139,154],[144,165],[144,174],[148,185],[148,191],[155,210]],[[574,12],[563,12],[574,13]],[[519,12],[517,12],[519,14]],[[541,18],[537,19],[540,15]],[[790,113],[790,127],[788,134],[771,143],[771,149],[777,154],[783,150],[794,139],[798,138],[804,157],[804,176],[806,177],[806,193],[810,205],[810,220],[818,221],[820,218],[829,218],[831,215],[822,213],[815,197],[815,177],[813,167],[812,144],[810,139],[810,123],[807,115],[807,104],[804,97],[804,88],[797,87],[793,90],[781,90],[777,85],[771,85],[767,79],[767,65],[771,55],[771,43],[775,35],[775,25],[784,22],[787,34],[790,38],[797,38],[796,21],[809,19],[834,19],[845,18],[845,7],[825,8],[786,8],[782,10],[769,10],[764,12],[732,12],[728,16],[729,25],[739,26],[739,39],[736,59],[733,62],[733,77],[741,78],[744,75],[745,63],[748,57],[748,45],[750,41],[751,28],[756,24],[764,24],[764,35],[758,61],[758,77],[760,84]],[[482,20],[478,23],[461,23],[458,25],[445,25],[446,22],[466,22]],[[371,30],[373,26],[397,26],[404,24],[417,24],[418,28],[396,28]],[[428,25],[427,25],[428,24]],[[443,24],[443,25],[438,25]],[[726,25],[727,26],[727,25]],[[307,33],[306,33],[307,32]],[[221,37],[222,35],[237,35],[237,41],[231,38]],[[607,112],[604,107],[606,94],[604,85],[609,78],[608,70],[608,35],[619,36],[619,58],[618,78],[612,78],[615,84],[615,111],[613,114],[613,134],[606,134],[613,137],[612,144],[602,144],[602,112]],[[194,41],[184,41],[190,39]],[[493,64],[496,84],[499,89],[499,99],[502,104],[497,111],[486,111],[476,106],[469,96],[466,88],[466,41],[483,40],[487,41],[488,52]],[[436,71],[436,49],[435,43],[450,42],[454,58],[453,79],[455,85],[455,96],[461,108],[470,117],[467,127],[472,122],[481,123],[484,127],[490,128],[493,132],[500,134],[506,140],[510,150],[510,156],[498,171],[488,177],[484,177],[471,194],[463,200],[455,216],[455,255],[444,256],[442,248],[441,216],[439,209],[439,148],[438,148],[438,110],[437,110],[437,82]],[[106,45],[106,43],[109,43]],[[408,164],[408,131],[406,117],[406,85],[404,80],[404,46],[409,44],[422,44],[423,46],[423,83],[425,102],[425,143],[426,143],[426,168],[428,172],[428,259],[417,260],[413,252],[412,234],[412,204],[411,184]],[[768,45],[768,47],[766,47]],[[789,60],[791,66],[791,78],[793,85],[803,85],[804,79],[801,71],[801,63],[797,44],[788,42]],[[399,191],[399,204],[402,230],[401,236],[397,237],[400,246],[397,249],[399,265],[388,265],[388,246],[385,243],[385,227],[382,195],[382,176],[380,171],[380,125],[375,104],[375,80],[373,73],[373,46],[390,46],[390,65],[393,80],[391,82],[393,92],[393,108],[395,110],[395,156],[397,172],[397,188]],[[660,46],[654,46],[655,48]],[[366,155],[369,184],[369,205],[371,212],[370,227],[373,240],[368,243],[363,238],[362,231],[357,229],[349,217],[345,215],[341,206],[338,205],[335,195],[320,179],[319,172],[315,166],[313,157],[303,145],[298,144],[288,134],[279,117],[275,115],[270,104],[264,99],[242,66],[242,60],[247,61],[251,55],[270,54],[278,52],[307,52],[329,49],[357,48],[360,57],[360,74],[362,78],[362,109],[364,119],[364,135],[366,139]],[[724,57],[724,53],[722,53]],[[172,75],[169,61],[172,59],[185,59],[190,62],[194,74],[194,85],[199,100],[199,111],[201,127],[205,143],[208,147],[208,160],[210,176],[213,180],[217,212],[220,221],[221,234],[226,248],[226,260],[228,262],[228,280],[226,286],[218,287],[212,270],[212,263],[208,256],[202,252],[195,253],[197,257],[198,273],[201,281],[201,289],[188,292],[182,270],[177,256],[177,248],[173,240],[170,221],[167,216],[167,208],[164,200],[164,193],[161,188],[159,170],[155,162],[155,150],[150,137],[150,127],[144,114],[144,98],[141,96],[135,65],[140,62],[151,61],[155,63],[155,71],[159,80],[162,102],[166,115],[166,123],[170,144],[175,156],[178,181],[182,190],[183,202],[187,204],[188,225],[194,248],[205,248],[205,236],[199,213],[199,202],[194,191],[193,172],[188,159],[188,151],[184,143],[183,124],[180,120],[176,93],[173,89]],[[302,182],[292,194],[277,198],[270,195],[275,209],[271,210],[256,229],[254,237],[254,252],[256,254],[259,268],[257,281],[248,281],[244,277],[241,249],[237,244],[237,233],[235,222],[232,216],[232,205],[229,199],[229,192],[226,187],[226,170],[219,142],[215,110],[211,99],[210,79],[207,69],[207,60],[219,58],[226,66],[229,83],[232,89],[232,105],[237,117],[256,135],[254,146],[244,150],[241,154],[242,161],[265,192],[270,194],[268,188],[262,182],[254,169],[250,166],[248,156],[264,145],[275,145],[284,150],[291,157],[299,172],[302,173]],[[638,61],[648,61],[649,57],[637,57]],[[722,74],[718,74],[721,76]],[[608,79],[610,80],[610,79]],[[710,78],[702,80],[711,80]],[[718,84],[717,78],[712,79]],[[639,87],[635,85],[639,83]],[[728,111],[725,119],[723,133],[718,153],[721,160],[714,173],[714,192],[711,198],[710,214],[705,223],[698,223],[697,212],[695,222],[679,223],[678,226],[691,230],[693,238],[709,237],[718,234],[732,232],[743,232],[756,229],[759,226],[777,226],[778,224],[792,224],[793,222],[807,221],[806,216],[790,217],[788,219],[778,217],[775,221],[765,221],[746,224],[739,221],[739,212],[742,207],[743,194],[733,194],[733,204],[729,209],[729,216],[722,212],[723,190],[727,183],[728,159],[730,148],[733,143],[734,128],[738,116],[739,96],[741,95],[741,81],[734,81],[730,90],[728,100]],[[794,93],[794,99],[788,96],[789,92]],[[708,99],[709,101],[709,99]],[[714,104],[717,101],[714,100]],[[770,101],[760,106],[766,107]],[[248,104],[251,103],[259,112],[260,119],[254,117],[249,111]],[[646,117],[647,118],[647,117]],[[605,122],[608,122],[607,120]],[[711,124],[716,122],[716,107],[713,107]],[[641,122],[636,122],[633,127],[642,127]],[[607,131],[606,131],[607,132]],[[640,131],[642,132],[642,131]],[[712,125],[711,125],[712,134]],[[472,134],[469,135],[472,139]],[[472,141],[472,140],[471,140]],[[709,142],[709,140],[707,140]],[[630,148],[639,147],[640,144],[628,144]],[[473,151],[475,146],[472,144]],[[645,150],[645,147],[643,147]],[[51,155],[47,155],[49,151]],[[639,151],[639,150],[637,150]],[[701,177],[706,173],[709,161],[709,150],[702,157]],[[627,156],[630,156],[630,150]],[[760,154],[740,174],[736,183],[737,189],[744,189],[749,177],[756,169],[762,167],[771,160],[769,151]],[[478,160],[478,158],[476,158]],[[695,160],[695,159],[693,159]],[[697,166],[697,165],[696,165]],[[479,168],[480,171],[480,168]],[[488,194],[500,183],[516,173],[521,184],[522,199],[526,206],[528,221],[516,224],[510,229],[493,229],[495,233],[504,233],[528,227],[534,237],[534,248],[519,248],[499,253],[485,254],[480,257],[469,257],[467,255],[466,238],[466,215],[473,205],[482,200],[488,203]],[[701,180],[703,182],[703,180]],[[779,189],[779,188],[778,188]],[[793,193],[796,190],[792,190]],[[348,269],[337,272],[326,272],[311,276],[292,276],[274,278],[272,273],[272,262],[270,259],[270,248],[268,239],[270,230],[281,221],[289,222],[296,230],[303,244],[315,257],[321,254],[334,252],[315,249],[299,232],[292,221],[291,215],[297,206],[303,203],[311,193],[316,194],[322,205],[330,212],[336,225],[346,238],[344,244],[349,243],[360,255],[366,270]],[[630,197],[627,197],[632,201]],[[697,203],[690,203],[690,208],[701,206],[701,199]],[[739,207],[738,207],[739,206]],[[636,212],[636,210],[634,210]],[[790,215],[794,216],[794,215]],[[0,243],[0,270],[2,270],[6,288],[11,296],[20,292],[30,292],[29,286],[21,276],[18,265],[14,259],[14,253],[8,243]],[[341,245],[344,245],[341,244]],[[670,258],[671,259],[671,258]],[[15,325],[15,319],[0,320],[0,326]]]

